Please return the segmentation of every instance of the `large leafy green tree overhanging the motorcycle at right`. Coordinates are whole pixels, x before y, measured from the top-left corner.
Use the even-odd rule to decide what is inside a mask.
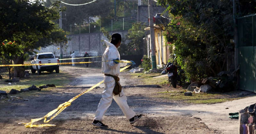
[[[158,0],[170,18],[166,40],[192,81],[230,71],[233,65],[233,3],[230,0]],[[256,2],[236,1],[237,16],[255,13]]]

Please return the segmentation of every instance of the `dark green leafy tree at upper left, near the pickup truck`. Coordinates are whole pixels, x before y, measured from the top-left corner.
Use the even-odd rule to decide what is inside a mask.
[[[37,47],[67,41],[67,33],[52,20],[59,18],[58,3],[53,8],[43,6],[41,0],[2,1],[0,8],[0,40],[14,40],[22,45],[19,54],[12,55],[14,64],[23,64],[24,54]],[[8,51],[6,51],[8,53]],[[14,69],[14,72],[18,70]],[[17,73],[14,73],[17,74]]]

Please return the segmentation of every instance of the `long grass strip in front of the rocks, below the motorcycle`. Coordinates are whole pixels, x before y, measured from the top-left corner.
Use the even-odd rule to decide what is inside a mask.
[[[235,91],[233,91],[235,92]],[[233,92],[229,93],[192,93],[192,96],[185,96],[182,91],[166,91],[158,92],[156,97],[165,98],[175,101],[184,101],[187,103],[194,104],[214,104],[219,102],[227,102],[236,99],[241,99],[242,97],[233,96]]]

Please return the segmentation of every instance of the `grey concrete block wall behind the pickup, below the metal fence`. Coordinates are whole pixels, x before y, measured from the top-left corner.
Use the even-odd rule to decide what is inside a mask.
[[[109,32],[110,34],[113,33],[120,33],[122,39],[126,39],[126,35],[128,31],[113,31]],[[106,47],[104,46],[103,41],[108,40],[103,33],[96,32],[96,33],[81,33],[81,34],[72,34],[68,35],[70,40],[68,41],[66,46],[63,46],[63,58],[71,58],[70,54],[72,51],[76,53],[76,57],[83,57],[85,52],[87,52],[90,56],[102,56]],[[126,43],[129,40],[126,40]],[[46,53],[52,52],[56,57],[60,57],[60,46],[47,46],[45,48],[41,48],[38,53]],[[99,58],[95,58],[95,60],[100,60]],[[96,64],[95,64],[96,65]],[[97,66],[101,66],[97,64]]]

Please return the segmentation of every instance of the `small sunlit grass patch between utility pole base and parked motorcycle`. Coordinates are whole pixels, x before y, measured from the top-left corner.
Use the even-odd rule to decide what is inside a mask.
[[[152,74],[143,74],[143,73],[132,73],[130,74],[132,78],[140,78],[142,79],[142,82],[146,85],[165,85],[169,84],[169,81],[167,81],[168,77],[161,77],[161,78],[153,78],[156,76],[160,76],[160,73],[152,73]],[[138,77],[139,76],[139,77]]]

